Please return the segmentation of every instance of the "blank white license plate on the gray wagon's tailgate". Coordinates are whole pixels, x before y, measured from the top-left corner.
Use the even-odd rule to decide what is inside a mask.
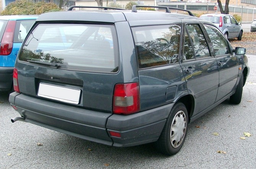
[[[78,104],[80,99],[80,92],[80,89],[40,83],[38,96],[59,100],[66,103]]]

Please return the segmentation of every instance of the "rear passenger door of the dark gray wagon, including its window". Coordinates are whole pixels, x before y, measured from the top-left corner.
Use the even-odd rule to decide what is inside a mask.
[[[199,24],[186,24],[183,59],[180,65],[189,94],[194,96],[194,113],[203,111],[214,104],[218,85],[219,70]]]

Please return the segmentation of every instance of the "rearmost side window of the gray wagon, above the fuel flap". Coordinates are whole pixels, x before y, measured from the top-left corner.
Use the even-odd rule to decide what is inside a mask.
[[[139,68],[179,62],[180,25],[132,28]]]

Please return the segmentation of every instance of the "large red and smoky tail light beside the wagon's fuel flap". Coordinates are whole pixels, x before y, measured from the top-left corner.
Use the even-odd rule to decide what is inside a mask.
[[[128,115],[139,112],[139,83],[115,85],[113,113]]]

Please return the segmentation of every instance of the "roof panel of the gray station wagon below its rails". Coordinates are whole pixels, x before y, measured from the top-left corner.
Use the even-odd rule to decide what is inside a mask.
[[[49,19],[50,18],[50,19]],[[193,16],[160,11],[131,10],[94,10],[94,11],[60,11],[44,13],[37,21],[96,21],[96,22],[122,22],[142,20],[167,20],[167,19],[198,19]]]

